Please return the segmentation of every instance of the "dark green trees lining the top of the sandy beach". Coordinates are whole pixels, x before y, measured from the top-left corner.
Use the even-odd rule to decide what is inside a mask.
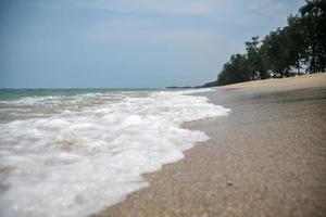
[[[269,77],[289,77],[326,69],[326,0],[308,0],[284,28],[262,40],[252,37],[246,53],[224,64],[218,78],[206,86],[229,85]]]

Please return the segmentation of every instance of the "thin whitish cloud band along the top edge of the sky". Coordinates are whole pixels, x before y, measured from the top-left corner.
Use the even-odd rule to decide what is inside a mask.
[[[71,0],[78,7],[122,13],[200,15],[241,22],[243,18],[284,18],[303,0]],[[294,9],[297,11],[297,9]]]

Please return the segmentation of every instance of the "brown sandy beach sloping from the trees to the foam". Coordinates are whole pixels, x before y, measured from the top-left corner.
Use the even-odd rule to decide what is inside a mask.
[[[326,74],[200,94],[233,110],[185,125],[211,139],[97,216],[326,216]]]

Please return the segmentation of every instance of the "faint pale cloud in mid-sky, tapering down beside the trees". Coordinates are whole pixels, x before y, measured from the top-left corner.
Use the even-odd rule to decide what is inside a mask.
[[[87,30],[84,40],[122,48],[170,49],[177,61],[189,68],[189,76],[198,85],[215,79],[216,74],[230,54],[239,52],[243,42],[234,41],[216,29],[156,28],[155,22],[115,20],[98,23]]]

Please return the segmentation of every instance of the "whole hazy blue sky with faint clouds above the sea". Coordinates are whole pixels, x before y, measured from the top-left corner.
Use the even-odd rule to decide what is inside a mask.
[[[0,0],[0,88],[160,88],[216,79],[304,0]]]

